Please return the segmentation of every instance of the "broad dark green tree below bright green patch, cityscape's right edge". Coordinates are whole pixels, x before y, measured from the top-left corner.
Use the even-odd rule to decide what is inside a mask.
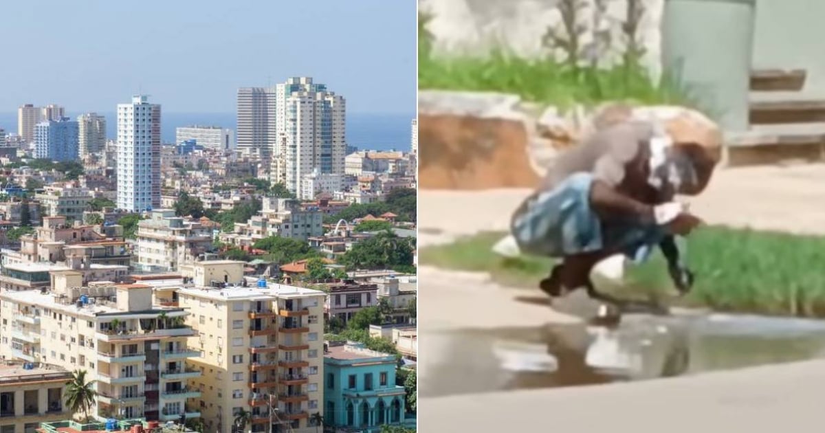
[[[395,269],[408,271],[413,266],[413,244],[393,232],[381,232],[358,242],[344,253],[340,262],[347,270]],[[400,269],[399,269],[400,268]]]

